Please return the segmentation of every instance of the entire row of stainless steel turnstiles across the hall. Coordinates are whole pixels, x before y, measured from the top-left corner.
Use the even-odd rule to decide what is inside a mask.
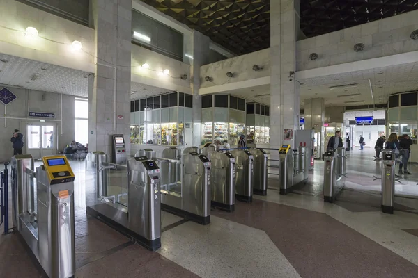
[[[293,152],[289,145],[279,150],[283,193],[305,181],[308,151],[301,146]],[[390,152],[383,156],[382,211],[393,213],[394,156]],[[343,149],[325,154],[325,201],[332,202],[343,188],[345,157]],[[261,149],[218,151],[209,146],[183,152],[167,148],[162,158],[144,149],[127,165],[108,163],[106,154],[92,152],[85,162],[86,183],[94,185],[86,186],[86,211],[148,250],[157,250],[161,210],[209,224],[211,206],[233,212],[235,197],[251,202],[253,193],[267,193],[267,161]],[[15,229],[48,277],[73,277],[75,174],[67,158],[42,158],[36,170],[30,155],[15,156],[11,164]],[[118,191],[123,187],[125,192]]]

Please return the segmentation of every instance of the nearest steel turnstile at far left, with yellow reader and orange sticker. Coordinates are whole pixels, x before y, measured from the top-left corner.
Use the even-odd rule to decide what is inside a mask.
[[[74,277],[75,176],[65,156],[44,157],[42,163],[34,172],[33,158],[12,159],[13,221],[48,277]]]

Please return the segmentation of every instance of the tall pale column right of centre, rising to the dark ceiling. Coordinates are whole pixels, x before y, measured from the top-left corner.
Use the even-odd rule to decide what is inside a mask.
[[[296,38],[299,32],[299,0],[270,2],[270,58],[271,58],[271,141],[272,148],[290,144],[284,131],[291,129],[293,136],[299,126],[300,84],[295,80]],[[276,152],[272,152],[275,154]]]

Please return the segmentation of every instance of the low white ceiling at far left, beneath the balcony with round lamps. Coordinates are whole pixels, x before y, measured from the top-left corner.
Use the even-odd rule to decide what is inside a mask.
[[[3,85],[87,97],[88,74],[68,67],[0,54],[0,84]]]

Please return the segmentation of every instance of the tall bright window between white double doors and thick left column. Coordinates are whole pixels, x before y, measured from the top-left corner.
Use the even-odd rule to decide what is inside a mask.
[[[132,104],[131,104],[132,105]],[[75,138],[76,142],[83,145],[88,143],[88,100],[87,99],[75,99]],[[68,142],[67,144],[70,144]]]

